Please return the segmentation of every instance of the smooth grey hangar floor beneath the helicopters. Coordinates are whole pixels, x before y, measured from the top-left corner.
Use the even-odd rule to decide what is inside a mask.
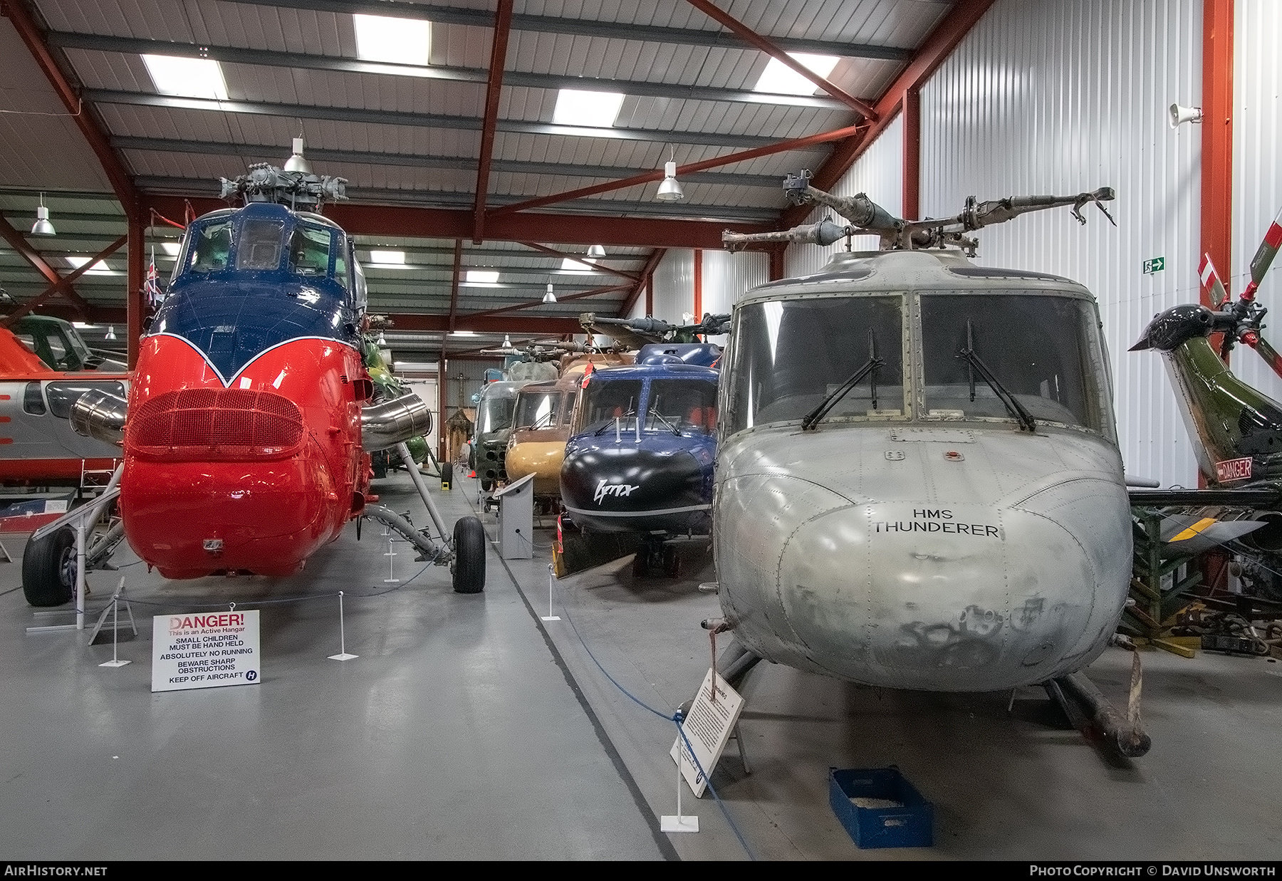
[[[409,478],[378,487],[426,513]],[[474,481],[438,494],[447,519]],[[492,516],[485,516],[491,536]],[[742,859],[709,796],[699,834],[659,832],[674,813],[670,712],[709,666],[699,622],[718,614],[696,585],[633,580],[629,559],[556,585],[551,531],[532,560],[491,549],[479,595],[431,568],[385,592],[387,540],[349,527],[305,573],[165,582],[121,571],[140,637],[122,668],[110,644],[26,633],[38,623],[0,563],[0,853],[9,859]],[[19,540],[5,536],[10,550]],[[422,568],[397,545],[397,576]],[[17,555],[17,553],[15,553]],[[117,563],[133,560],[127,550]],[[91,576],[100,608],[118,576]],[[336,601],[265,604],[347,591]],[[372,595],[377,594],[377,595]],[[150,692],[147,616],[235,600],[260,608],[260,685]],[[262,604],[259,604],[262,603]],[[568,614],[567,614],[568,613]],[[722,637],[724,639],[724,637]],[[1146,653],[1153,750],[1106,760],[1065,728],[1038,689],[1009,694],[878,692],[760,666],[744,692],[751,773],[733,741],[713,776],[753,852],[768,859],[1279,859],[1282,664]],[[1111,696],[1128,657],[1090,675]],[[931,849],[859,850],[828,807],[826,776],[897,764],[936,805]]]

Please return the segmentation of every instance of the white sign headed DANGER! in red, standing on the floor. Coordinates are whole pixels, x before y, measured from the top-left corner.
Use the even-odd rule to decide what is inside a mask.
[[[153,691],[258,685],[260,660],[258,609],[151,619]]]

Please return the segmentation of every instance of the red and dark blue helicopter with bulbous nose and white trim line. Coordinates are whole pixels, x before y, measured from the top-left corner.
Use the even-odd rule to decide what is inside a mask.
[[[368,516],[450,564],[456,591],[485,586],[479,521],[459,519],[451,540],[419,474],[438,542],[373,504],[369,453],[426,433],[431,412],[412,394],[374,398],[364,274],[353,240],[319,213],[344,185],[267,164],[223,180],[244,206],[187,227],[128,400],[91,390],[72,405],[78,432],[123,445],[123,533],[167,578],[294,575]],[[28,600],[69,599],[68,532],[42,537],[55,546],[35,555],[47,566]]]

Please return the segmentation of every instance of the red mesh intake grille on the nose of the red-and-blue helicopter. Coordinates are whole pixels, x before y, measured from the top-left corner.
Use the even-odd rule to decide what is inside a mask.
[[[153,398],[131,414],[126,445],[168,462],[277,459],[303,442],[303,414],[283,395],[242,389],[186,389]]]

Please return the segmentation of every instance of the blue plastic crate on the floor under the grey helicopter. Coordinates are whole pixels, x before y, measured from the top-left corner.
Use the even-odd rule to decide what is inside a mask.
[[[903,808],[862,808],[853,798],[885,799]],[[935,805],[899,768],[828,768],[828,801],[859,848],[929,848]]]

